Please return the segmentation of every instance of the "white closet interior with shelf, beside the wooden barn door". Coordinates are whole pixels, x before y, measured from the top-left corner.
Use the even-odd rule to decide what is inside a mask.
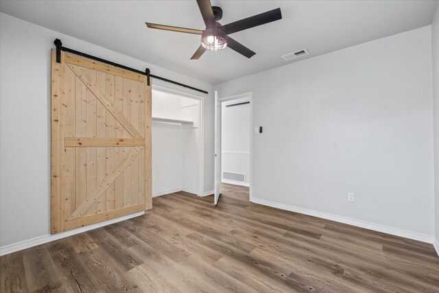
[[[152,88],[152,197],[203,194],[202,97]]]

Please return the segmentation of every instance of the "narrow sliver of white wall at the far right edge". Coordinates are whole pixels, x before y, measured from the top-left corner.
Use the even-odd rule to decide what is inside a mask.
[[[439,6],[431,25],[431,52],[433,60],[434,110],[434,174],[436,194],[436,249],[439,253]]]

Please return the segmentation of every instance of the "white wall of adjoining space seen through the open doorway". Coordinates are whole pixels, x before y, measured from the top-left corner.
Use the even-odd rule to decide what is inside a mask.
[[[245,174],[245,185],[250,184],[250,104],[227,105],[248,101],[249,98],[222,102],[221,111],[222,171]]]

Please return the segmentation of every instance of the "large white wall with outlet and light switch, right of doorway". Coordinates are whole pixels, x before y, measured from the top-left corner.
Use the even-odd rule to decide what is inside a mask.
[[[430,34],[421,27],[215,86],[220,97],[252,92],[253,126],[263,126],[252,134],[254,201],[431,240]]]

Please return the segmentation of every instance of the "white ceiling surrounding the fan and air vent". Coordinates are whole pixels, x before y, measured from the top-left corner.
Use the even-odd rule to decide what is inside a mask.
[[[223,25],[281,8],[283,19],[231,34],[257,54],[226,48],[189,60],[200,36],[148,29],[145,21],[204,30],[190,1],[1,1],[0,11],[113,51],[218,84],[429,25],[438,1],[226,1]],[[69,44],[64,44],[69,47]],[[282,55],[307,49],[290,61]],[[75,48],[72,48],[75,49]],[[91,52],[93,54],[93,52]]]

